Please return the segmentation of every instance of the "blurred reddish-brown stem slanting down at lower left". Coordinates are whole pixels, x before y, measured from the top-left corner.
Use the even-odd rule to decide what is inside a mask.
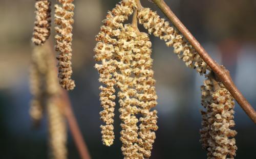
[[[86,146],[86,143],[83,140],[75,115],[71,108],[71,103],[66,90],[63,90],[62,101],[63,101],[63,113],[65,114],[67,121],[69,123],[69,128],[70,128],[72,137],[75,141],[76,147],[79,151],[80,157],[82,159],[90,159],[91,157],[90,157],[88,148]]]

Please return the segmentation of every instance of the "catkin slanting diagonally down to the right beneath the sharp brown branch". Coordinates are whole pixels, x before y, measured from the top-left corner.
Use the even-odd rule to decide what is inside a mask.
[[[173,46],[175,54],[185,62],[186,66],[195,68],[200,74],[206,73],[206,69],[209,69],[207,64],[174,26],[170,26],[169,22],[160,18],[150,8],[141,9],[138,18],[139,23],[143,24],[148,33],[160,37],[167,46]]]

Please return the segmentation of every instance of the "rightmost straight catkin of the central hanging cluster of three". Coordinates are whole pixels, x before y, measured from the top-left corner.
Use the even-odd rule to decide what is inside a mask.
[[[151,150],[156,138],[157,111],[151,110],[157,105],[157,95],[155,90],[154,71],[152,70],[153,59],[151,59],[151,42],[146,33],[136,32],[137,37],[133,48],[133,73],[135,74],[136,103],[142,117],[139,119],[139,152],[145,158],[151,156]]]

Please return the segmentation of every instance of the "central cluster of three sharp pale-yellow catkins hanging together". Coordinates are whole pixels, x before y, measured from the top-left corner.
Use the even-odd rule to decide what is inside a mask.
[[[121,1],[103,20],[99,41],[94,49],[95,60],[101,61],[95,67],[99,71],[100,101],[103,111],[101,125],[104,145],[113,144],[113,117],[115,88],[120,103],[122,153],[124,158],[148,158],[151,156],[158,129],[157,111],[151,110],[157,104],[155,80],[151,59],[151,42],[146,33],[140,33],[131,24],[123,21],[133,13],[135,1]],[[137,116],[141,116],[139,119]]]

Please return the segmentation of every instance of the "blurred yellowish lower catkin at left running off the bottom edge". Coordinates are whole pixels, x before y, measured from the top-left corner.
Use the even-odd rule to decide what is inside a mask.
[[[67,128],[65,118],[61,114],[57,98],[47,101],[48,129],[49,129],[49,155],[53,159],[65,159],[67,156]]]

